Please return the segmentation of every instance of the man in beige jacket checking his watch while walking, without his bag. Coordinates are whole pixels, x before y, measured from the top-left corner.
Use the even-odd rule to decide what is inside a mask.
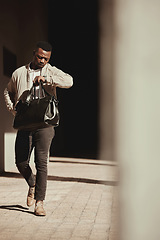
[[[6,106],[15,115],[15,106],[24,92],[29,90],[33,83],[43,82],[44,88],[54,95],[56,87],[70,88],[73,85],[72,77],[51,66],[48,62],[51,57],[52,46],[48,42],[40,41],[33,51],[33,59],[26,66],[15,70],[4,90]],[[32,130],[18,130],[15,142],[16,166],[29,185],[27,205],[35,203],[35,215],[45,216],[43,200],[47,185],[47,160],[49,149],[54,137],[54,128],[50,125]],[[31,152],[34,149],[36,178],[29,165]]]

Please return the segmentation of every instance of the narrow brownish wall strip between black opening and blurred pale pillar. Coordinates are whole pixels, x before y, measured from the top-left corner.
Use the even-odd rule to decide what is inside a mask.
[[[99,1],[99,159],[113,160],[113,3]]]

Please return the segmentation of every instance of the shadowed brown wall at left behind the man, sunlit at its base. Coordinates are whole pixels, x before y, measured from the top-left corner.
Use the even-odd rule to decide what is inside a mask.
[[[10,1],[0,7],[0,172],[14,167],[12,115],[6,110],[3,91],[9,77],[3,74],[3,46],[17,56],[17,67],[32,59],[34,44],[47,40],[47,5],[44,1]],[[6,162],[6,164],[5,164]]]

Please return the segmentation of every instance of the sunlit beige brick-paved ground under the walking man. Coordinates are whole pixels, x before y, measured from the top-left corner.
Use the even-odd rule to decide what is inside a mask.
[[[47,215],[26,206],[28,187],[12,172],[0,176],[0,240],[117,240],[113,162],[51,158]]]

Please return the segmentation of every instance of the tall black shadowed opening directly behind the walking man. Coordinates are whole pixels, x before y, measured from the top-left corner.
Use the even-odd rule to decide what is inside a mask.
[[[60,126],[51,155],[96,158],[98,153],[97,0],[49,0],[51,64],[71,74],[72,88],[57,89]]]

